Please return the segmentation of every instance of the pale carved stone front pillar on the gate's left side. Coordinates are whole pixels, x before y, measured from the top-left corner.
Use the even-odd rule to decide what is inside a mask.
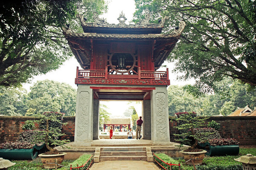
[[[74,144],[90,146],[93,141],[93,90],[78,85]]]

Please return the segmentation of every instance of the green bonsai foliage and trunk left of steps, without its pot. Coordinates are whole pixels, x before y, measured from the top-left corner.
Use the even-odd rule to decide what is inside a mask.
[[[65,134],[61,132],[64,113],[59,112],[45,112],[37,115],[40,119],[38,122],[38,128],[41,129],[41,133],[35,136],[34,142],[44,142],[49,152],[45,154],[58,154],[58,150],[53,149],[55,146],[64,147],[64,144],[70,142],[69,140],[60,140],[61,136]],[[43,138],[42,138],[43,137]]]

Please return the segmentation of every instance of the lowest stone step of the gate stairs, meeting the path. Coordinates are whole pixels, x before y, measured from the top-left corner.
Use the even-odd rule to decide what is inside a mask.
[[[147,161],[147,156],[100,156],[99,161]]]

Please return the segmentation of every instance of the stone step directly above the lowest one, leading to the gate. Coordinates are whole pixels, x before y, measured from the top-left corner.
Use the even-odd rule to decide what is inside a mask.
[[[101,151],[100,156],[146,156],[145,151]]]

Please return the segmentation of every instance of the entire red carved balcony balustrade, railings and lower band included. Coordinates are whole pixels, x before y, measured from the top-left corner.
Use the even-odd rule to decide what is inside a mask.
[[[105,70],[76,69],[76,84],[131,84],[170,85],[168,68],[166,71],[141,71],[138,74],[108,74]]]

